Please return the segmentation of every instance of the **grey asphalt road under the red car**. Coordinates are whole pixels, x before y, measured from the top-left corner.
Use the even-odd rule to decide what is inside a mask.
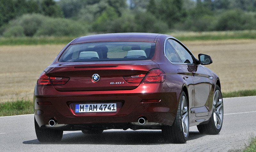
[[[36,139],[34,116],[0,117],[0,151],[241,151],[256,135],[256,96],[225,98],[224,120],[218,135],[189,128],[185,144],[165,143],[161,131],[108,130],[98,135],[64,132],[58,144]]]

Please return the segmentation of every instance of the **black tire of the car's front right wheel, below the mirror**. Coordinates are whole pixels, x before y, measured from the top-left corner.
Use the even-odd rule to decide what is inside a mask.
[[[215,91],[214,91],[214,97],[215,97],[215,92],[216,91],[220,91],[220,87],[218,85],[216,85],[215,87]],[[221,91],[220,91],[220,95],[221,95]],[[213,97],[213,99],[214,99]],[[221,100],[222,100],[222,95],[221,95]],[[222,102],[222,101],[221,101]],[[219,134],[220,130],[221,130],[221,127],[222,127],[222,124],[223,124],[223,102],[221,103],[222,104],[222,120],[220,121],[221,122],[221,125],[218,126],[220,128],[217,128],[217,126],[215,125],[215,122],[214,122],[214,116],[216,116],[216,114],[214,115],[215,113],[215,106],[214,106],[214,103],[212,103],[213,106],[213,111],[212,111],[212,116],[209,120],[209,122],[207,124],[200,124],[200,125],[197,125],[197,129],[200,133],[202,134],[211,134],[211,135],[216,135],[216,134]],[[221,105],[220,105],[221,106]],[[217,122],[218,123],[218,122]]]

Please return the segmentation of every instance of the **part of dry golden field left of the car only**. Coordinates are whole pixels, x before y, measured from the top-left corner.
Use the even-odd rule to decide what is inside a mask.
[[[0,46],[0,102],[32,100],[38,76],[64,46]]]

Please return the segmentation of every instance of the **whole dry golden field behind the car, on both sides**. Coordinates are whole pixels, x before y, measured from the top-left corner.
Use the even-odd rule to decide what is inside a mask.
[[[208,54],[223,92],[256,88],[256,40],[184,41],[197,57]],[[64,45],[0,46],[0,102],[32,100],[40,73]]]

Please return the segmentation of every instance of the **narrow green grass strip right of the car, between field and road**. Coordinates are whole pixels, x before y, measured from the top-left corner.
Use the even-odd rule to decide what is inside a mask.
[[[223,98],[229,98],[229,97],[245,97],[245,96],[255,96],[256,95],[256,89],[254,90],[240,90],[240,91],[234,91],[234,92],[222,92]]]

